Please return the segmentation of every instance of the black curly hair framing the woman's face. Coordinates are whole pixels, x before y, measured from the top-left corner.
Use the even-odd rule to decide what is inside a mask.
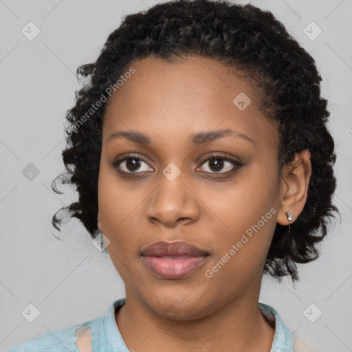
[[[107,92],[133,61],[154,55],[173,62],[173,58],[192,54],[233,68],[261,89],[265,97],[261,99],[261,110],[275,122],[280,137],[279,171],[293,161],[296,153],[308,150],[311,154],[312,173],[305,207],[290,225],[290,236],[287,226],[276,224],[264,265],[264,273],[278,281],[287,275],[296,281],[296,263],[318,258],[317,245],[327,235],[330,218],[338,212],[331,202],[336,189],[336,154],[326,126],[330,113],[327,100],[320,97],[322,79],[314,59],[271,12],[253,5],[169,1],[124,17],[120,28],[109,35],[96,62],[77,69],[78,79],[83,78],[85,84],[76,91],[75,105],[66,114],[67,146],[62,153],[66,170],[52,181],[52,189],[62,193],[56,188],[56,179],[76,185],[79,199],[58,212],[68,211],[69,217],[79,219],[95,238]],[[100,109],[92,109],[99,100],[104,101]],[[63,217],[58,217],[58,212],[52,224],[60,230]]]

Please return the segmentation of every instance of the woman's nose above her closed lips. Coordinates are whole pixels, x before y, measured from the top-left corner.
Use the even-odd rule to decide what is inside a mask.
[[[180,223],[186,225],[199,219],[199,198],[185,181],[182,173],[173,181],[160,176],[159,185],[146,206],[149,221],[173,228]]]

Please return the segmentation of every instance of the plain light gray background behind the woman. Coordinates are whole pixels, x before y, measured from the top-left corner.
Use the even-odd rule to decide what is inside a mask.
[[[63,170],[63,125],[79,88],[76,67],[96,60],[122,14],[157,2],[0,0],[1,351],[102,316],[113,300],[124,297],[109,256],[91,245],[78,220],[61,234],[52,228],[52,214],[76,195],[67,188],[58,196],[50,183]],[[300,266],[300,282],[292,285],[287,278],[278,285],[264,278],[260,300],[278,310],[311,351],[352,351],[352,1],[252,3],[272,11],[316,59],[331,111],[338,155],[334,201],[342,214],[331,224],[320,259]],[[32,41],[21,33],[30,21],[41,31]],[[304,32],[311,21],[322,29],[315,40]],[[30,163],[39,169],[32,180],[22,173]],[[34,322],[21,315],[30,303],[40,311]],[[309,318],[322,311],[315,322],[304,314],[312,303]]]

